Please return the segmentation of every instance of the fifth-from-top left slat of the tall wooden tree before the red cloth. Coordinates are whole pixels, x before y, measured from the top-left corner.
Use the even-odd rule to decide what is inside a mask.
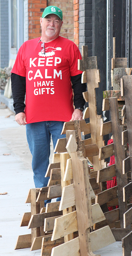
[[[117,186],[107,189],[96,195],[95,203],[100,205],[117,198]]]

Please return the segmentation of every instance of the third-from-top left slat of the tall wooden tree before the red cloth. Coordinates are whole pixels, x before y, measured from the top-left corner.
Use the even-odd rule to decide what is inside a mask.
[[[103,159],[111,157],[113,155],[114,155],[114,144],[113,143],[99,149],[99,160],[103,160]]]

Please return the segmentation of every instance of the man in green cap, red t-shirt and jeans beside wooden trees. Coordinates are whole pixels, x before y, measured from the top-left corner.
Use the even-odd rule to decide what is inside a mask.
[[[19,125],[26,125],[37,188],[47,186],[49,180],[45,173],[49,165],[50,136],[55,147],[57,139],[65,137],[60,135],[64,122],[82,120],[85,103],[82,92],[86,89],[81,84],[82,72],[77,69],[81,59],[77,46],[59,36],[62,11],[55,6],[47,7],[40,24],[42,36],[23,43],[11,71],[15,120]]]

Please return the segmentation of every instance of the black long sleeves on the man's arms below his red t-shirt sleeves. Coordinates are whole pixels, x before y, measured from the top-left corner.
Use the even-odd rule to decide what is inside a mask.
[[[74,106],[75,108],[83,108],[85,100],[82,92],[86,90],[86,84],[81,84],[81,76],[71,76],[72,88],[74,92]],[[11,74],[12,82],[12,94],[13,94],[13,106],[16,114],[24,112],[25,104],[25,93],[26,93],[26,78],[17,74]]]

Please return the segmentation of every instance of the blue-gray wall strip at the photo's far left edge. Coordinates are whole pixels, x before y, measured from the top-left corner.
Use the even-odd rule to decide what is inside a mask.
[[[0,0],[0,67],[9,65],[8,0]]]

